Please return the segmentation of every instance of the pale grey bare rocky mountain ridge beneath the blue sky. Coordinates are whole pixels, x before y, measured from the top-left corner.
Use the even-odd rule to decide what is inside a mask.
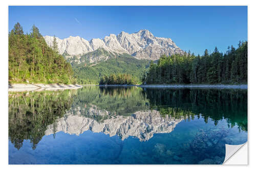
[[[49,46],[53,46],[53,37],[44,37]],[[148,30],[129,34],[121,32],[117,36],[110,34],[103,39],[85,40],[79,36],[65,39],[56,37],[59,54],[64,54],[67,58],[78,57],[94,52],[97,49],[103,49],[108,55],[127,53],[137,59],[158,60],[160,55],[172,55],[175,53],[182,54],[183,51],[170,38],[155,37]],[[108,56],[105,55],[105,56]],[[101,59],[105,60],[105,58]],[[89,59],[90,63],[97,61]]]

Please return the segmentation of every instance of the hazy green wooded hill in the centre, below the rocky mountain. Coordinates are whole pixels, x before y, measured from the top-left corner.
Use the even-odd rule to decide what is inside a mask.
[[[72,67],[79,84],[99,84],[101,78],[111,74],[130,75],[134,83],[139,84],[149,64],[148,60],[138,60],[128,54],[122,54],[99,63],[73,64]]]

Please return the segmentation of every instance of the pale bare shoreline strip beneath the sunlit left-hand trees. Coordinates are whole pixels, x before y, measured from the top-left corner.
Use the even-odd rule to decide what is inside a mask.
[[[21,91],[42,91],[42,90],[64,90],[64,89],[77,89],[82,86],[78,84],[9,84],[8,91],[21,92]]]

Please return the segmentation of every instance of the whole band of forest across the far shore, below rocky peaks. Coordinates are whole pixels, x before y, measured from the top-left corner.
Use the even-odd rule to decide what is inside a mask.
[[[9,33],[9,83],[75,84],[76,77],[79,84],[247,84],[247,41],[225,54],[216,47],[203,56],[162,55],[149,67],[148,60],[124,54],[92,67],[71,66],[57,51],[56,38],[49,47],[37,27],[24,34],[17,22]]]

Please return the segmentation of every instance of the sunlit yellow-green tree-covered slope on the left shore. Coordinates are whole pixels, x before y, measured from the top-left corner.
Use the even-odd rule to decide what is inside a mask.
[[[76,83],[70,63],[57,53],[56,44],[49,47],[35,26],[24,34],[17,22],[9,33],[9,83],[23,82]]]

